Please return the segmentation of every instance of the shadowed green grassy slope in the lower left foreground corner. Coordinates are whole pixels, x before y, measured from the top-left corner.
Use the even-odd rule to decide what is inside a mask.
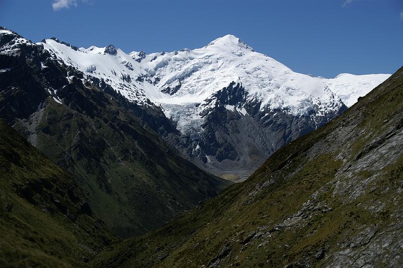
[[[83,266],[113,237],[75,179],[0,121],[0,266]]]

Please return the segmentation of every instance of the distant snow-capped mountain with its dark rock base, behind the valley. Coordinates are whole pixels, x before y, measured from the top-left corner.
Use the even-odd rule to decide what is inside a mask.
[[[149,55],[126,54],[113,45],[78,49],[55,38],[40,44],[82,71],[83,80],[161,109],[180,131],[171,142],[196,163],[219,170],[257,167],[390,76],[295,73],[233,35],[203,48]]]

